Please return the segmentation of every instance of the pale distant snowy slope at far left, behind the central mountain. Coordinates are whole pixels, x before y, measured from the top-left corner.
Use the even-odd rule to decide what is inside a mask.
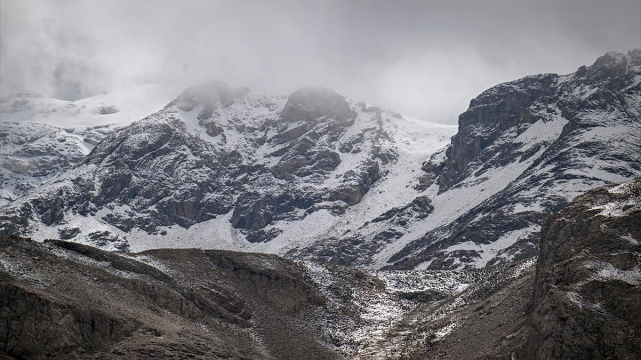
[[[82,160],[108,133],[163,108],[171,85],[120,88],[78,101],[35,94],[0,99],[0,204]]]

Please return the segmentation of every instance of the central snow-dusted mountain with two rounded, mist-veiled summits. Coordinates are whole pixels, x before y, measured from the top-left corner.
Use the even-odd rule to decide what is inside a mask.
[[[282,97],[207,83],[8,204],[4,231],[286,254],[411,201],[405,184],[454,131],[331,90]]]

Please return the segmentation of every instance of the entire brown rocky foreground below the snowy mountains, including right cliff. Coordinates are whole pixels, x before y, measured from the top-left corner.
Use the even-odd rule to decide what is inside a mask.
[[[537,261],[445,271],[0,238],[0,356],[636,359],[640,215],[638,177],[549,217]]]

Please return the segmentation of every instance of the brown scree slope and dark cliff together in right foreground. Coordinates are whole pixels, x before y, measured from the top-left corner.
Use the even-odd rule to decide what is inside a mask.
[[[450,316],[449,334],[408,358],[638,359],[640,244],[641,177],[591,190],[546,220],[535,272]]]

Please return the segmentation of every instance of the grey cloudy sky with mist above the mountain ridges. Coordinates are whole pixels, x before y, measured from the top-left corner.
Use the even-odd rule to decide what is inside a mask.
[[[0,94],[302,86],[455,123],[497,83],[641,47],[641,0],[0,0]]]

